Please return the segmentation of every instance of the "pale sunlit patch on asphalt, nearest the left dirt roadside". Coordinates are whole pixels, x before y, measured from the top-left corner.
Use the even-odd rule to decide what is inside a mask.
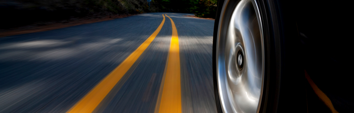
[[[76,44],[77,40],[13,42],[0,46],[0,60],[61,60],[80,56],[82,52],[98,52],[112,47],[127,47],[135,43],[124,41],[122,44],[117,44],[121,40],[121,38],[101,38],[94,42],[79,44]]]

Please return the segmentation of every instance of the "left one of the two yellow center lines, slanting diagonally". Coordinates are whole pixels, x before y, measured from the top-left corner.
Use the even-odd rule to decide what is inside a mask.
[[[77,102],[67,113],[91,113],[104,99],[104,97],[119,82],[123,75],[130,69],[135,61],[140,57],[144,50],[154,40],[165,23],[165,16],[162,15],[160,26],[155,32],[145,40],[134,52],[132,52],[118,67],[110,72],[101,82],[99,82],[88,94],[86,94],[79,102]]]

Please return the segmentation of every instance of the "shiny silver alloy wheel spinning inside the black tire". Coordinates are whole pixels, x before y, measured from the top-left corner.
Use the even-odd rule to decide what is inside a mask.
[[[264,82],[264,43],[255,0],[225,0],[221,10],[216,74],[224,113],[258,113]]]

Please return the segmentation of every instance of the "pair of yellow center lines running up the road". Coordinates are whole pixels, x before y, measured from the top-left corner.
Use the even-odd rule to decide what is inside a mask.
[[[130,69],[130,67],[160,32],[165,23],[164,14],[162,14],[162,16],[164,19],[155,32],[66,113],[92,113],[96,109],[99,103],[119,82],[119,80]],[[159,99],[161,101],[158,102],[160,104],[156,104],[159,105],[159,110],[155,111],[160,113],[181,113],[181,72],[179,63],[178,35],[175,23],[173,23],[171,18],[170,20],[172,24],[170,53],[167,62],[166,75],[164,75],[164,84],[161,84],[161,88],[163,88],[161,99]]]

